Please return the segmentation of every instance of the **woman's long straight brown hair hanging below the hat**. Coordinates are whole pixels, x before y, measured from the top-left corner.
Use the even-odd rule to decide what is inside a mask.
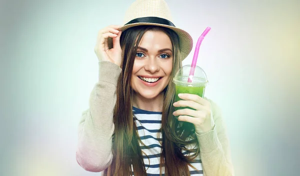
[[[104,171],[104,175],[146,175],[142,151],[139,143],[143,144],[138,136],[137,127],[133,120],[132,94],[130,86],[132,67],[135,59],[138,43],[146,31],[159,30],[166,33],[172,43],[173,65],[171,77],[181,67],[179,58],[178,35],[171,29],[159,26],[134,26],[122,32],[120,45],[122,48],[122,71],[120,73],[116,88],[116,104],[114,107],[114,134],[112,142],[113,159]],[[188,165],[199,153],[198,147],[186,148],[193,144],[198,146],[194,134],[194,126],[188,122],[178,121],[172,114],[174,107],[172,103],[175,95],[175,85],[169,80],[163,90],[164,101],[162,107],[161,133],[162,153],[160,156],[160,174],[164,166],[165,175],[190,175]],[[183,155],[182,149],[190,152]],[[132,168],[131,168],[132,165]]]

